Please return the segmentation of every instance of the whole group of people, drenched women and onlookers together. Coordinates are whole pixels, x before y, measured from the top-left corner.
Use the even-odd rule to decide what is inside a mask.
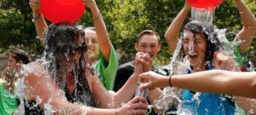
[[[118,66],[95,0],[82,0],[95,25],[88,28],[70,22],[48,26],[41,1],[30,0],[43,56],[31,61],[21,49],[11,52],[0,78],[0,114],[166,114],[176,111],[175,99],[169,109],[149,108],[165,87],[173,87],[174,93],[181,90],[181,109],[188,114],[255,114],[256,73],[242,73],[240,67],[255,36],[256,18],[242,0],[233,1],[243,25],[234,41],[244,41],[235,46],[234,56],[225,53],[216,27],[203,20],[186,23],[178,37],[191,9],[186,2],[165,39],[176,54],[173,59],[188,61],[189,66],[173,65],[170,71],[153,63],[161,49],[160,37],[153,30],[139,32],[134,43],[136,58]],[[149,90],[146,97],[134,97],[137,83],[144,83],[140,90]]]

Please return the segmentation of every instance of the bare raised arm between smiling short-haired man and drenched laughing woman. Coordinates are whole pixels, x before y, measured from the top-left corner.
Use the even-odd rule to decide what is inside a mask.
[[[169,26],[169,28],[166,30],[166,33],[164,35],[167,44],[169,45],[169,50],[171,54],[174,53],[177,43],[178,43],[178,33],[180,32],[182,28],[182,24],[188,15],[188,12],[190,10],[191,6],[186,2],[180,13],[178,13],[178,16],[174,18],[173,22]]]

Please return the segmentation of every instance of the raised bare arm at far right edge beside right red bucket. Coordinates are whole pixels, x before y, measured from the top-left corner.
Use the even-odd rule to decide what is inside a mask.
[[[239,46],[239,50],[241,54],[244,54],[250,44],[252,43],[253,37],[256,33],[256,18],[253,13],[250,11],[244,1],[242,0],[234,0],[235,4],[238,6],[238,11],[240,12],[240,17],[242,20],[242,30],[238,33],[235,40],[242,40]]]

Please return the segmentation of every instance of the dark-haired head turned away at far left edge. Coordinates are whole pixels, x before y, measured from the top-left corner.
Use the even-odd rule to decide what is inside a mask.
[[[21,64],[27,64],[31,61],[29,54],[21,49],[14,49],[9,56],[8,66],[11,70],[19,69]]]

